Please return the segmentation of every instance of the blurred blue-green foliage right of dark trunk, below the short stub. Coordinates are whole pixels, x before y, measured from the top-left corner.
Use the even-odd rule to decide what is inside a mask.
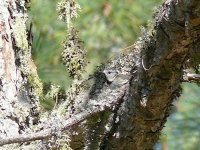
[[[200,149],[200,93],[195,84],[184,84],[174,112],[162,135],[163,149]],[[175,109],[175,108],[174,108]]]

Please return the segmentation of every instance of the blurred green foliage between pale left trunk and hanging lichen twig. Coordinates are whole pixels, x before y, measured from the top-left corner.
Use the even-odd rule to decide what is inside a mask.
[[[62,41],[65,38],[65,24],[58,19],[56,2],[33,0],[30,20],[33,22],[33,58],[40,78],[44,82],[68,87],[70,79],[61,63]],[[39,14],[39,15],[38,15]]]

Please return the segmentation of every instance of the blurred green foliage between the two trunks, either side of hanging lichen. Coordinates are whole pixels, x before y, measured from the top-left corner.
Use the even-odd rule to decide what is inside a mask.
[[[68,75],[60,58],[60,43],[65,39],[66,25],[59,21],[59,14],[55,11],[58,2],[32,0],[30,15],[34,26],[33,54],[43,81],[68,87],[70,80],[67,78],[68,82],[65,81]],[[113,53],[132,45],[140,26],[147,25],[158,2],[160,0],[80,0],[82,10],[75,23],[80,29],[80,38],[85,42],[90,61],[86,71],[91,73],[94,66],[105,62]]]

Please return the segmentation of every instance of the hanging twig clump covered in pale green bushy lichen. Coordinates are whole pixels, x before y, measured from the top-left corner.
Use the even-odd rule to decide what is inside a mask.
[[[86,51],[72,19],[78,16],[80,5],[76,0],[61,0],[57,4],[59,18],[67,24],[68,35],[63,44],[62,60],[73,79],[81,79],[86,65]]]

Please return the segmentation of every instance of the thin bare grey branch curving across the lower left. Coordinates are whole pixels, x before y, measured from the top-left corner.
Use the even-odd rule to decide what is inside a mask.
[[[54,126],[55,128],[47,127],[43,131],[39,131],[36,133],[22,134],[22,135],[18,135],[17,137],[2,138],[0,140],[0,146],[6,145],[6,144],[24,143],[24,142],[47,139],[52,136],[56,136],[58,132],[63,132],[65,130],[68,130],[72,126],[81,123],[82,121],[86,120],[87,118],[97,113],[103,112],[105,110],[112,111],[115,105],[123,102],[123,96],[125,94],[126,88],[127,88],[127,85],[124,85],[122,90],[118,93],[118,95],[116,95],[115,99],[113,99],[113,101],[110,103],[106,103],[104,105],[90,106],[91,109],[84,110],[78,114],[75,114],[73,117],[67,119],[65,123],[56,122]]]

